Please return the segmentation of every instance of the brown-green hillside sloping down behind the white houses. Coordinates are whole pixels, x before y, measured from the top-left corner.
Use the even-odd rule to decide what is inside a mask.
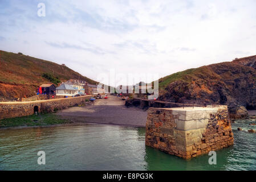
[[[58,84],[70,78],[84,80],[90,84],[97,83],[65,65],[22,55],[22,53],[0,51],[0,101],[30,97],[43,83],[53,81]]]

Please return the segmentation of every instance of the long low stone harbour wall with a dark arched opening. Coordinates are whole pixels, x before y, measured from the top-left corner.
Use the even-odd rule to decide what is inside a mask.
[[[51,113],[70,106],[84,104],[91,96],[57,98],[28,102],[0,102],[0,119],[22,117],[38,113]]]

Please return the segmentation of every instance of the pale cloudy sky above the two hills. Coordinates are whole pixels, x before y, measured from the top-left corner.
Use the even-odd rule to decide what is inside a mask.
[[[255,7],[255,0],[0,0],[0,49],[95,80],[111,70],[163,77],[256,55]]]

